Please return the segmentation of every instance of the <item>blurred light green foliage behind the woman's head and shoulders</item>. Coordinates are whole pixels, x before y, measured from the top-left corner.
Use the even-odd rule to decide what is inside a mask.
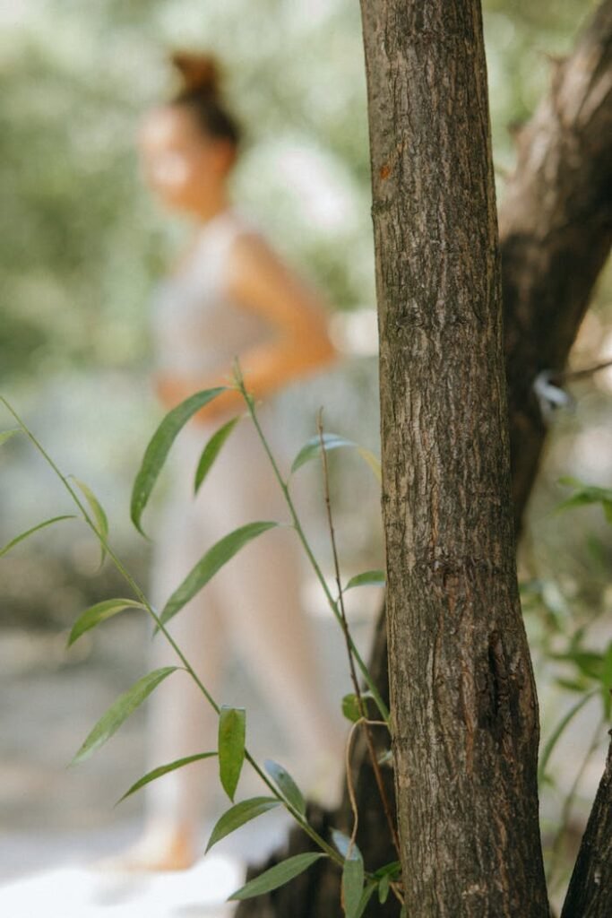
[[[488,0],[496,157],[529,116],[584,0]],[[240,202],[337,308],[373,305],[369,158],[354,0],[26,0],[0,39],[0,378],[142,367],[147,300],[177,230],[139,181],[139,118],[164,54],[216,50],[248,148]],[[279,168],[280,166],[280,168]],[[328,204],[325,204],[327,196]],[[331,203],[329,203],[331,201]]]

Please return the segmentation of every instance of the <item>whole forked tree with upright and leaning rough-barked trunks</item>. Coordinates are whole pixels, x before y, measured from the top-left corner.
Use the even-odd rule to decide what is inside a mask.
[[[499,218],[479,0],[362,0],[362,23],[406,913],[546,918],[538,703],[515,540],[545,436],[533,383],[562,370],[609,252],[612,2],[555,65],[550,95],[518,136]],[[381,627],[382,689],[385,644]],[[563,918],[612,914],[610,768]],[[352,773],[358,840],[375,867],[393,849],[362,744]],[[321,831],[349,819],[346,800],[318,814]],[[292,853],[305,846],[292,837]],[[332,918],[334,870],[322,863],[238,914]],[[372,901],[365,914],[398,911]]]

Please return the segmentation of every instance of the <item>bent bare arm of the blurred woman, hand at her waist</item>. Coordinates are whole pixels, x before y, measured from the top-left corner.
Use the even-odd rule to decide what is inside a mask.
[[[245,385],[254,397],[268,395],[333,359],[320,297],[284,265],[261,236],[244,234],[234,242],[226,290],[239,307],[270,326],[269,341],[240,355]],[[230,375],[228,366],[215,378],[162,376],[158,394],[172,408],[198,389],[226,384]],[[211,420],[241,406],[239,393],[227,392],[198,417]]]

